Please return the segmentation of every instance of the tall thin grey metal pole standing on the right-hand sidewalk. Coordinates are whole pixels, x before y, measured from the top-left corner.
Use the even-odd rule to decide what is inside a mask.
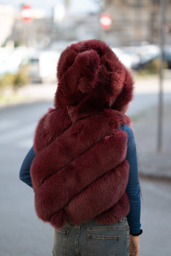
[[[164,45],[165,45],[165,16],[166,16],[166,0],[160,0],[161,6],[161,27],[160,27],[160,69],[159,69],[159,111],[158,111],[158,152],[162,148],[162,114],[163,114],[163,65],[164,65]]]

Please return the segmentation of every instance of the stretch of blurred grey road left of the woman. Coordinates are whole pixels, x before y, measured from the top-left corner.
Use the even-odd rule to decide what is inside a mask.
[[[36,121],[51,103],[4,108],[1,115],[1,237],[2,256],[51,255],[53,229],[38,220],[33,190],[19,180],[19,169]]]

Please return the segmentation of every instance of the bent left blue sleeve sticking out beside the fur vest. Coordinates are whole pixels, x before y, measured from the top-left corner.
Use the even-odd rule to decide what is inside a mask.
[[[27,185],[33,188],[32,186],[32,180],[30,177],[30,167],[32,165],[32,161],[35,157],[35,152],[33,147],[29,150],[27,153],[24,161],[22,162],[21,168],[20,168],[20,180],[25,182]]]

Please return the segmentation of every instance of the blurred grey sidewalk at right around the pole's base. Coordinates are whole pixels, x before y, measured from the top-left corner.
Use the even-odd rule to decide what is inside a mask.
[[[134,118],[133,118],[134,120]],[[138,154],[139,175],[171,181],[171,102],[164,106],[162,148],[157,151],[158,109],[147,110],[133,121]]]

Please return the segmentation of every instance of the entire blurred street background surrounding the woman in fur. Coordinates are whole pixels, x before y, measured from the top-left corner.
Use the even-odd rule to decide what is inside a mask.
[[[61,51],[88,39],[105,41],[133,72],[128,115],[143,196],[139,255],[170,256],[170,13],[170,0],[0,0],[2,256],[51,255],[53,229],[37,219],[19,170],[38,119],[53,106]]]

